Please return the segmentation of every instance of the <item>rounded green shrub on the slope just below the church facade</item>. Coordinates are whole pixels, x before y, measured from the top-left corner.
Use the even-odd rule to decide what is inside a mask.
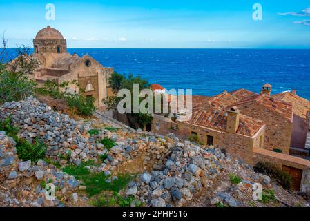
[[[66,97],[68,106],[77,111],[79,115],[91,116],[95,111],[94,98],[84,95],[70,95]]]

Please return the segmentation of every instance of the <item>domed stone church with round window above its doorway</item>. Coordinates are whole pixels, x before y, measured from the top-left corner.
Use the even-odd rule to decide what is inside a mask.
[[[79,87],[70,84],[70,92],[79,93],[79,88],[82,88],[86,96],[95,98],[96,108],[104,107],[102,101],[111,95],[108,78],[113,73],[113,68],[103,67],[89,55],[70,55],[66,39],[61,32],[50,26],[37,33],[33,39],[33,47],[34,56],[40,62],[33,75],[39,86],[43,86],[48,79],[57,84],[77,81]]]

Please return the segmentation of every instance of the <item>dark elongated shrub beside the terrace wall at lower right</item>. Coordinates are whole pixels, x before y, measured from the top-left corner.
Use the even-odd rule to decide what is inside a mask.
[[[277,166],[269,162],[258,162],[254,166],[255,172],[268,175],[273,180],[276,180],[284,189],[291,189],[292,177],[286,171],[278,169]]]

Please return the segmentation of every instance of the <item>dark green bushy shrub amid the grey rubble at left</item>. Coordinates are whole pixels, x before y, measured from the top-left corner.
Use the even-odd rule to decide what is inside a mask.
[[[16,146],[19,159],[26,161],[31,160],[32,163],[37,163],[40,159],[44,159],[46,144],[38,142],[30,144],[27,140],[19,140]]]

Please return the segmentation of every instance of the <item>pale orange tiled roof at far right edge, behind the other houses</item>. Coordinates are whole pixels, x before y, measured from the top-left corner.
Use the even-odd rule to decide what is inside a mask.
[[[310,111],[309,100],[304,99],[298,95],[294,95],[293,93],[289,91],[273,95],[272,97],[281,99],[284,102],[289,102],[290,104],[292,104],[293,113],[295,113],[296,115],[300,117],[306,118],[307,112]]]

